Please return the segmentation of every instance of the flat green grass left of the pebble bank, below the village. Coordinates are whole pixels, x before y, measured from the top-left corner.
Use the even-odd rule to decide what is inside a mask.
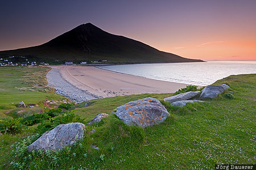
[[[47,85],[46,74],[49,67],[0,67],[0,118],[10,118],[10,109],[25,111],[32,108],[18,109],[16,105],[22,100],[26,105],[36,104],[37,108],[45,108],[43,101],[61,100]],[[41,112],[41,111],[40,111]]]

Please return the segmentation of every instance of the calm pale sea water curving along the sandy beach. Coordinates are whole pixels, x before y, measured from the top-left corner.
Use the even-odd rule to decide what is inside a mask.
[[[207,61],[101,66],[146,78],[205,86],[229,75],[256,74],[256,61]]]

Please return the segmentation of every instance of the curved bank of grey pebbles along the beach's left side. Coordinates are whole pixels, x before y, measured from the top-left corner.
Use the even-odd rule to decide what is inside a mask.
[[[87,90],[81,90],[73,86],[67,80],[63,79],[58,69],[51,69],[47,75],[47,86],[55,88],[57,94],[68,97],[68,99],[75,101],[76,103],[82,103],[83,101],[100,99],[102,96],[91,94]]]

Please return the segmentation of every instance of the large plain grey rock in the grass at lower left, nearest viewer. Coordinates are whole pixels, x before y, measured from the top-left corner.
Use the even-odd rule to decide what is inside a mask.
[[[65,145],[72,145],[77,139],[84,136],[85,125],[81,123],[61,124],[56,128],[46,131],[40,138],[27,147],[33,150],[59,150]]]

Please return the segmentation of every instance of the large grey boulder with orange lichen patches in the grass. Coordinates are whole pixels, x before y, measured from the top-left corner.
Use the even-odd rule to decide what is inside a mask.
[[[126,125],[137,125],[142,128],[159,124],[170,116],[160,101],[152,97],[130,101],[117,107],[113,113]]]

